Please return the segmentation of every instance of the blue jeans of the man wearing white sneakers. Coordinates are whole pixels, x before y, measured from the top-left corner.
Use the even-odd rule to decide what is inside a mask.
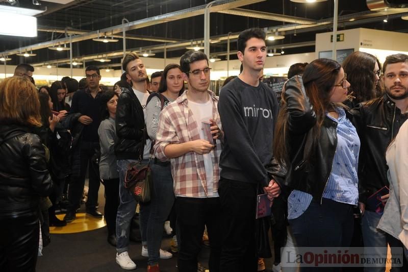
[[[137,202],[124,187],[124,177],[126,175],[127,165],[135,160],[118,160],[117,166],[119,171],[119,197],[120,203],[118,207],[118,213],[116,215],[116,251],[121,254],[127,251],[129,247],[129,233],[131,220],[136,212]],[[143,160],[142,163],[147,163],[147,160]],[[149,215],[149,204],[140,203],[139,220],[140,220],[140,233],[142,235],[142,244],[147,244],[146,231],[147,231],[147,218]]]

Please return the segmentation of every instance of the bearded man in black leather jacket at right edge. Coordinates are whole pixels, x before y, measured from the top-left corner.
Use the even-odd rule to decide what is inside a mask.
[[[381,97],[360,103],[353,109],[356,116],[355,127],[361,140],[359,206],[363,215],[364,247],[370,253],[374,251],[380,258],[387,257],[387,244],[391,247],[391,254],[394,254],[393,249],[402,248],[402,243],[377,229],[384,210],[370,207],[367,205],[367,199],[379,189],[389,187],[386,150],[402,123],[408,118],[408,55],[388,56],[384,62],[383,71],[386,93]],[[383,195],[382,202],[385,203],[389,196],[389,194]],[[391,224],[398,225],[397,222],[391,222]],[[365,267],[364,270],[385,271],[385,269],[386,264],[378,264],[376,267]],[[405,260],[403,267],[394,267],[394,265],[392,267],[393,271],[406,271],[406,269]]]

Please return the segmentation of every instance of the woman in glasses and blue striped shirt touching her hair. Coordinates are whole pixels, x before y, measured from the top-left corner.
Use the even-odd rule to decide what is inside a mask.
[[[284,87],[273,151],[288,168],[288,219],[299,247],[351,242],[360,139],[340,104],[348,87],[341,65],[329,59],[314,60]]]

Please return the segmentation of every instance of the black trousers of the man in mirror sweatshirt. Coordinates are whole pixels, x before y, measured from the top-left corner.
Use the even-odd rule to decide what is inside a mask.
[[[221,178],[218,192],[223,229],[220,271],[256,272],[257,184]]]

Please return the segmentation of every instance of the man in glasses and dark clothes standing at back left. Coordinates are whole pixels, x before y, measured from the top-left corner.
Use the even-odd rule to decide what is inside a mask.
[[[85,77],[88,87],[73,94],[69,112],[70,114],[81,113],[78,122],[82,124],[83,128],[81,128],[78,143],[72,151],[72,173],[68,188],[69,207],[64,217],[67,222],[72,222],[76,218],[77,209],[81,206],[87,169],[89,172],[89,190],[86,213],[95,218],[102,218],[102,214],[96,209],[100,185],[99,167],[93,159],[100,149],[98,127],[101,121],[99,100],[102,89],[99,87],[101,78],[99,68],[96,66],[86,67]]]

